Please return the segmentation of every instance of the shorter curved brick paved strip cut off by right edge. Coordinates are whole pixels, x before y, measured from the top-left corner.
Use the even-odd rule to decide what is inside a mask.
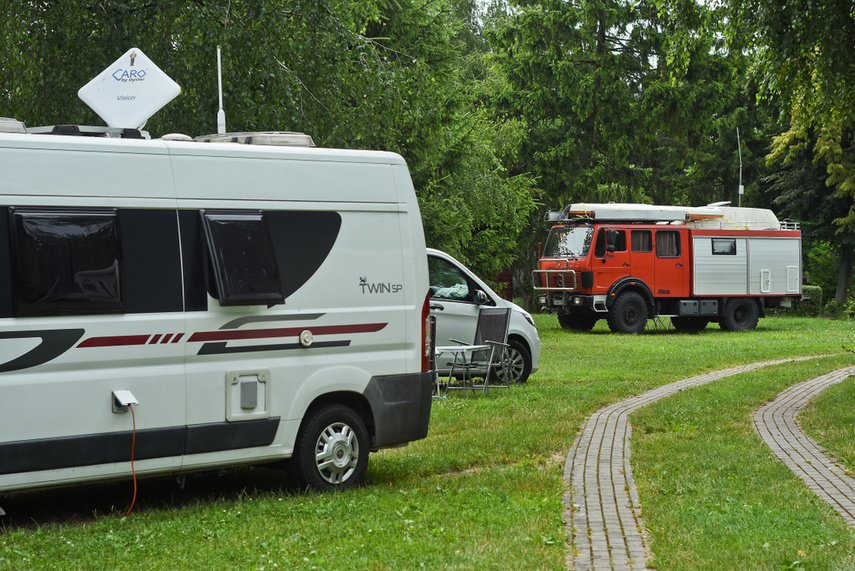
[[[781,462],[855,527],[855,480],[796,424],[796,415],[810,399],[851,375],[855,375],[855,367],[788,388],[754,413],[754,428]]]

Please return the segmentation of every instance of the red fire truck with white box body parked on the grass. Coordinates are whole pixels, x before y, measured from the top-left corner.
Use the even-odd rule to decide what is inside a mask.
[[[567,329],[606,319],[639,333],[648,319],[676,329],[711,321],[753,329],[769,307],[802,294],[801,232],[766,209],[571,204],[554,223],[534,272],[538,302]]]

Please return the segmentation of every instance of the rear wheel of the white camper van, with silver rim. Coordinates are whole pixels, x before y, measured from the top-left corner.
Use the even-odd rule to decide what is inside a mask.
[[[324,405],[303,419],[289,475],[298,486],[345,490],[356,486],[368,468],[368,431],[352,409]]]

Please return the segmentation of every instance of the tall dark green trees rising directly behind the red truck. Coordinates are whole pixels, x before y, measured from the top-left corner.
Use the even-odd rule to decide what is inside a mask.
[[[530,172],[552,208],[571,201],[738,201],[740,128],[747,195],[759,200],[766,122],[747,60],[706,39],[679,73],[679,23],[652,2],[520,0],[488,37],[508,78],[497,105],[526,129],[512,172]]]

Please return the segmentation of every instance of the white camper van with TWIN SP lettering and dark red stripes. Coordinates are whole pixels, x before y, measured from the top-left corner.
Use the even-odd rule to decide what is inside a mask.
[[[0,492],[130,477],[132,446],[137,475],[290,459],[342,489],[426,436],[400,156],[33,131],[0,122]]]

